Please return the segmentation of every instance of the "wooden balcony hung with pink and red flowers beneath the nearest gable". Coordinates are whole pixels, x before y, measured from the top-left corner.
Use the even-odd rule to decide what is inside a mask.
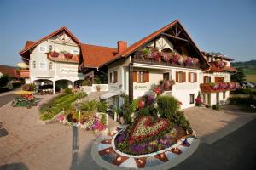
[[[180,62],[180,60],[177,59],[177,57],[182,58],[183,62]],[[199,69],[200,68],[200,62],[193,63],[192,62],[186,62],[187,57],[182,55],[175,55],[175,56],[161,56],[153,57],[151,54],[143,54],[142,52],[137,52],[134,55],[134,62],[135,63],[141,63],[141,64],[148,64],[148,65],[165,65],[165,66],[173,66],[173,67],[186,67],[186,68],[192,68],[192,69]],[[189,59],[196,59],[196,58],[189,58]]]

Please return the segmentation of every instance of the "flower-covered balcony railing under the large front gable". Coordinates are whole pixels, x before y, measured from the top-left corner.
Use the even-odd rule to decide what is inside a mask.
[[[197,58],[171,53],[148,53],[137,52],[134,55],[134,62],[150,65],[166,65],[175,67],[200,68]]]

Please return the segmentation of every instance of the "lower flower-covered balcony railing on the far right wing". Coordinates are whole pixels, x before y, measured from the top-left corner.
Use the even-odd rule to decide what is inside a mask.
[[[200,89],[203,93],[218,93],[231,91],[240,88],[237,82],[216,82],[216,83],[201,83]]]

